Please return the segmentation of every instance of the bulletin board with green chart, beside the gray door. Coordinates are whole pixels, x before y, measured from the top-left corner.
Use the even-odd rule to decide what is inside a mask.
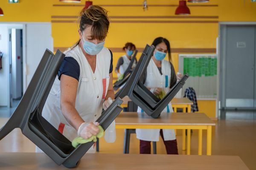
[[[192,87],[198,99],[217,98],[217,55],[216,54],[179,54],[179,70],[189,74],[182,88]]]

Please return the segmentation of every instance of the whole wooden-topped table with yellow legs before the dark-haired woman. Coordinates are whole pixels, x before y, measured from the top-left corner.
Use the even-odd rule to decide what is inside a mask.
[[[212,153],[212,126],[204,113],[162,113],[158,119],[146,113],[125,112],[116,118],[116,129],[187,129],[187,155],[190,155],[190,130],[198,129],[198,155],[202,155],[202,131],[207,130],[207,155]]]

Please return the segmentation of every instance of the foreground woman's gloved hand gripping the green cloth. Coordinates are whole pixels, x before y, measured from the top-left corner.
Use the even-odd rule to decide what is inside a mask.
[[[88,139],[91,136],[96,136],[99,133],[99,122],[82,123],[77,131],[78,136]]]

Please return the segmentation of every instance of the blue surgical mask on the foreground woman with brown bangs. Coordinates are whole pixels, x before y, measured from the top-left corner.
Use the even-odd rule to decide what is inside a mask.
[[[84,36],[82,36],[82,37],[84,40]],[[100,42],[98,44],[94,44],[93,42],[84,40],[84,44],[83,44],[84,51],[90,55],[99,54],[99,52],[102,51],[102,48],[104,47],[104,43],[105,43],[105,41]]]

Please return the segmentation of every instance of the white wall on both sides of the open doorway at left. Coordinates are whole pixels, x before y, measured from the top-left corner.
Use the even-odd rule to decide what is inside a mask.
[[[23,28],[23,92],[40,62],[44,51],[53,51],[51,23],[0,23],[0,50],[3,51],[0,70],[0,106],[7,106],[9,102],[9,49],[8,29],[10,27]]]

